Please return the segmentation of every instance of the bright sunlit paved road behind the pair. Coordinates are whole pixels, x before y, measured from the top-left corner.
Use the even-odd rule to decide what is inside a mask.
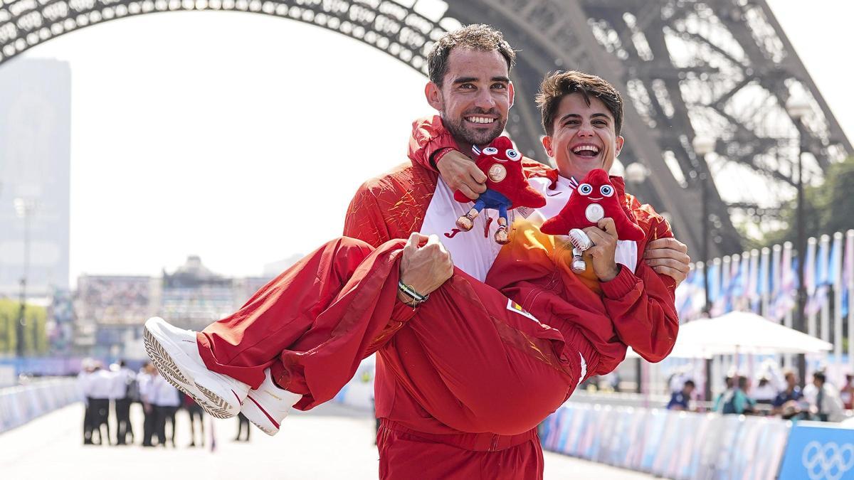
[[[141,434],[142,413],[132,420]],[[286,431],[270,437],[252,427],[250,442],[233,442],[237,420],[215,420],[216,449],[188,448],[190,426],[178,413],[178,448],[84,446],[83,407],[73,405],[0,434],[0,478],[73,479],[298,479],[374,480],[377,448],[373,419],[327,404],[285,420]],[[208,419],[210,420],[210,419]],[[137,443],[140,440],[137,438]],[[546,454],[546,479],[640,480],[648,475]]]

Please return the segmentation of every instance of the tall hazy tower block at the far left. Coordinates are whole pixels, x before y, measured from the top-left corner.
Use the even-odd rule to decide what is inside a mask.
[[[0,69],[0,297],[68,287],[71,69],[21,59]],[[27,251],[28,250],[28,251]]]

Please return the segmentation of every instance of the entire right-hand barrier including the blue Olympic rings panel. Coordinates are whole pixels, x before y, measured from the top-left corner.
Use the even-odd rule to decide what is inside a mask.
[[[854,480],[854,430],[839,424],[568,402],[543,448],[688,479]],[[785,454],[785,455],[784,455]]]

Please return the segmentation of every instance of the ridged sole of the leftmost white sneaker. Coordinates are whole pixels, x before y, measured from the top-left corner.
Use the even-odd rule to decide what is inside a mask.
[[[230,402],[225,401],[219,395],[216,395],[211,390],[206,389],[196,382],[190,382],[190,375],[185,374],[175,363],[175,360],[167,353],[166,348],[163,348],[161,342],[157,340],[155,335],[146,327],[143,334],[143,343],[145,351],[149,354],[151,363],[154,364],[158,372],[161,372],[163,378],[171,383],[173,387],[181,390],[202,407],[205,412],[208,412],[212,417],[217,419],[231,419],[237,415],[240,408],[233,407]],[[237,395],[235,395],[237,396]]]

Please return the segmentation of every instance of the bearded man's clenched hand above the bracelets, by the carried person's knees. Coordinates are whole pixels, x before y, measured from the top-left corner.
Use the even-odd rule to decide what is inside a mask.
[[[427,237],[417,231],[412,232],[403,247],[401,282],[411,286],[421,295],[428,295],[441,287],[452,275],[451,254],[439,242],[439,237]]]

